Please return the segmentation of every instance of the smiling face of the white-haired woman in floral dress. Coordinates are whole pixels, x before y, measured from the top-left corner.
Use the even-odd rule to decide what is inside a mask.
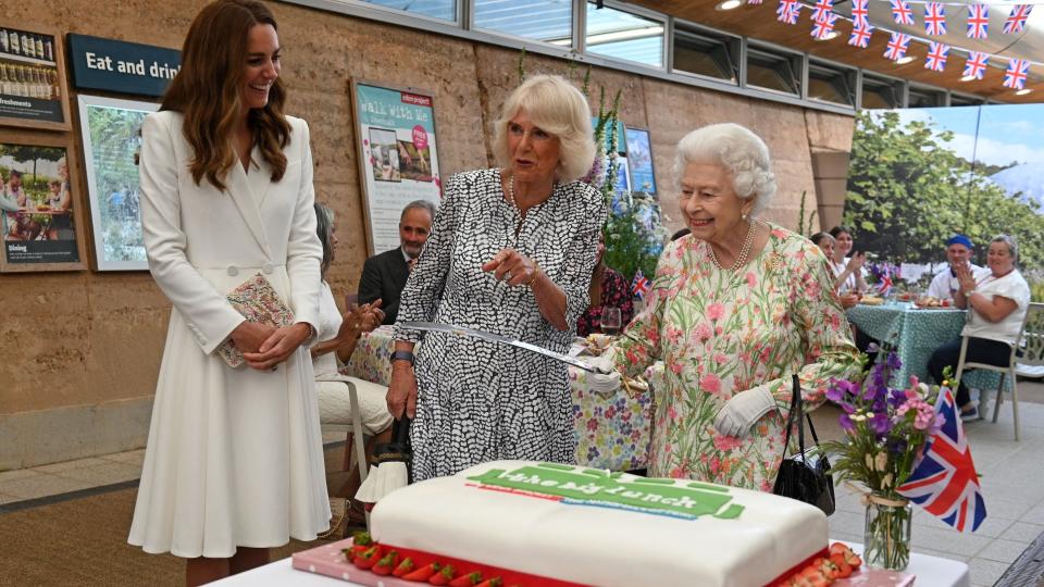
[[[679,208],[696,238],[718,245],[741,230],[754,202],[736,196],[732,177],[717,163],[689,163],[682,174]]]

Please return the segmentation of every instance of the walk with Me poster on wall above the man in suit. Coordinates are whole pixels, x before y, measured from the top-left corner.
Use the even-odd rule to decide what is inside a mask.
[[[399,216],[413,200],[438,203],[435,109],[430,92],[352,80],[352,110],[370,254],[399,246]]]

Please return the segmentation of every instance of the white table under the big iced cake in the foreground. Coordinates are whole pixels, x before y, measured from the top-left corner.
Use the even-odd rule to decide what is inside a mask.
[[[860,555],[862,554],[862,545],[847,544],[853,550]],[[910,565],[906,567],[905,572],[917,575],[916,587],[970,587],[971,585],[967,564],[949,559],[918,554],[917,552],[910,554]],[[352,587],[359,584],[296,571],[290,566],[290,559],[286,558],[214,582],[211,585],[221,585],[222,587],[239,585],[244,587]]]

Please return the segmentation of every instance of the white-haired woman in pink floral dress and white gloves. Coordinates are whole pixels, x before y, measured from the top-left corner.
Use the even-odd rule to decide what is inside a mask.
[[[822,401],[859,371],[825,257],[756,220],[775,191],[768,149],[734,124],[678,146],[680,204],[692,235],[667,246],[646,310],[597,363],[637,375],[662,360],[654,476],[771,491],[784,455],[791,375]]]

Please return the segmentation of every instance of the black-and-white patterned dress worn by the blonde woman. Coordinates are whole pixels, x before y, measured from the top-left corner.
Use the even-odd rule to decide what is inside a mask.
[[[432,235],[402,290],[395,338],[421,340],[422,333],[401,323],[434,321],[564,352],[587,308],[605,216],[601,196],[580,182],[557,185],[522,220],[504,199],[499,170],[451,176]],[[566,292],[566,330],[540,315],[527,287],[510,287],[482,271],[506,247],[535,260]],[[425,333],[414,370],[414,479],[452,475],[497,459],[574,461],[563,363],[486,340]]]

